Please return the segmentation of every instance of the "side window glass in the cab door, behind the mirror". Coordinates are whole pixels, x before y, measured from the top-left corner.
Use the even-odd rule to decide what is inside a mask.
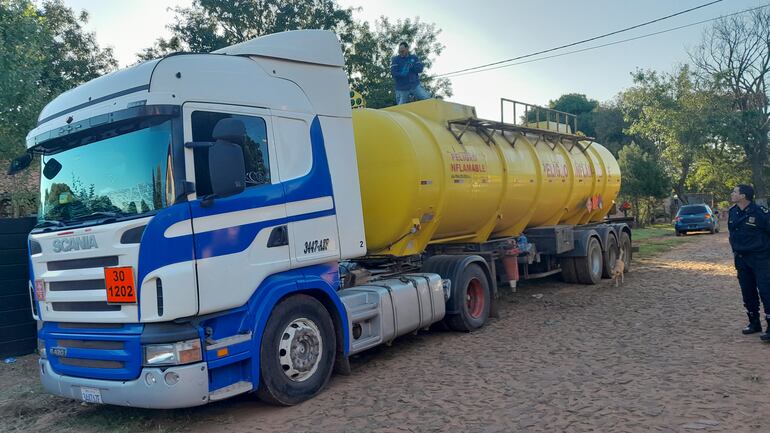
[[[267,152],[267,125],[261,117],[242,114],[194,111],[191,116],[193,141],[213,141],[214,126],[221,119],[240,119],[246,126],[243,158],[246,162],[246,187],[270,183],[270,164]],[[209,182],[208,149],[195,149],[195,189],[198,196],[211,194]]]

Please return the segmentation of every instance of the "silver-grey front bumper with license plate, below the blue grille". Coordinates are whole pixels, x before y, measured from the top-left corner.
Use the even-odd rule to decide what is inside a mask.
[[[46,391],[62,397],[81,400],[81,388],[96,388],[102,402],[118,406],[142,407],[147,409],[175,409],[200,406],[209,401],[208,369],[205,362],[197,364],[160,368],[143,368],[136,380],[100,380],[71,377],[57,374],[47,359],[40,359],[40,380]],[[173,372],[179,375],[174,385],[164,380],[164,375]],[[148,380],[154,377],[155,381]]]

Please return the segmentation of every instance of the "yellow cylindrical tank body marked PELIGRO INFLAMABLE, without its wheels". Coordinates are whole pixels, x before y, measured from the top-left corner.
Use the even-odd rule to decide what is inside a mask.
[[[605,147],[500,131],[487,144],[472,128],[460,143],[447,121],[469,117],[473,107],[439,100],[353,110],[369,255],[419,254],[431,243],[484,242],[607,215],[620,169]]]

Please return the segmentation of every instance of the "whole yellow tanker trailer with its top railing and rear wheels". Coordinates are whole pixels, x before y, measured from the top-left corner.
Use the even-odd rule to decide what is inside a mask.
[[[474,328],[472,313],[493,309],[472,301],[485,291],[493,300],[498,282],[560,272],[595,284],[618,257],[630,265],[630,229],[605,220],[621,183],[613,155],[573,134],[571,115],[522,105],[540,121],[482,120],[441,100],[353,112],[368,247],[358,263],[462,281],[467,293],[451,299],[466,305],[447,305],[456,328]],[[490,287],[458,275],[471,256]]]

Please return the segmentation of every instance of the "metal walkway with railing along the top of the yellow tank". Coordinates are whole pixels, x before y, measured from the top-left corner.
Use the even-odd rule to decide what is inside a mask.
[[[510,123],[505,122],[506,104],[511,105],[513,108],[513,120]],[[518,114],[523,114],[520,120],[521,123],[516,123]],[[544,128],[541,127],[542,122],[545,122]],[[555,131],[549,129],[549,126],[553,125],[556,127]],[[572,151],[577,146],[581,151],[585,152],[593,142],[592,137],[578,135],[574,132],[577,128],[577,116],[574,114],[506,98],[500,99],[499,122],[469,117],[466,119],[450,120],[447,122],[447,127],[460,144],[462,144],[463,135],[469,130],[476,132],[487,145],[491,143],[497,144],[495,141],[495,133],[497,132],[511,146],[515,146],[516,141],[526,135],[534,135],[537,138],[534,143],[535,146],[542,141],[552,150],[556,149],[558,143],[561,143],[565,147],[569,146],[569,151]],[[506,134],[506,132],[511,134]]]

